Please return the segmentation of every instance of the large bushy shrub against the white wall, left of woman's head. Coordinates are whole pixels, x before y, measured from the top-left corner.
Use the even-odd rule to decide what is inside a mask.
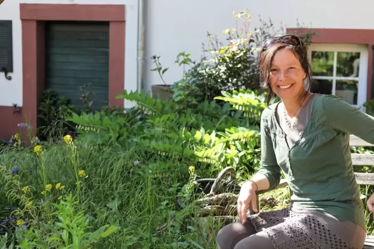
[[[213,100],[222,91],[238,89],[260,90],[258,73],[258,51],[269,37],[284,34],[285,29],[276,29],[271,19],[260,19],[261,25],[250,30],[252,14],[248,9],[238,13],[233,11],[235,28],[223,30],[225,42],[218,35],[207,32],[207,42],[203,43],[204,57],[186,72],[190,86],[195,86],[194,96],[197,102]],[[303,28],[298,23],[298,27]],[[316,35],[312,29],[299,37],[308,45]]]

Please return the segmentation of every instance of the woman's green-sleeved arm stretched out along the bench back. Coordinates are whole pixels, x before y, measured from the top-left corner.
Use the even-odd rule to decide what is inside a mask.
[[[332,128],[356,135],[368,143],[374,143],[374,117],[333,95],[324,96],[323,108],[327,122]]]

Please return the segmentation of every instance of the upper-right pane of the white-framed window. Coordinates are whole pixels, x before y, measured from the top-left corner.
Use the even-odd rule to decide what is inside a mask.
[[[360,53],[338,52],[336,76],[358,77],[360,65]]]

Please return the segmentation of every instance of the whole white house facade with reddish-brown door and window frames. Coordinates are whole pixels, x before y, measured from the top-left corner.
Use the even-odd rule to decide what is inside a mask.
[[[250,5],[248,5],[250,4]],[[353,106],[373,94],[374,2],[357,0],[4,0],[0,4],[0,139],[17,124],[37,126],[44,90],[81,103],[79,87],[95,92],[98,105],[128,106],[123,90],[150,91],[161,84],[152,55],[169,67],[164,79],[182,76],[180,52],[203,55],[207,31],[235,27],[232,11],[248,7],[250,28],[271,18],[275,27],[300,32],[304,23],[318,35],[309,48],[316,91],[335,94]],[[224,40],[223,40],[224,41]],[[363,109],[362,109],[363,110]]]

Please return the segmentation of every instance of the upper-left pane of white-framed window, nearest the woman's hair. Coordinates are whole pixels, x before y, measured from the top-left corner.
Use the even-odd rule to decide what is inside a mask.
[[[312,51],[311,67],[314,76],[332,76],[334,52]]]

